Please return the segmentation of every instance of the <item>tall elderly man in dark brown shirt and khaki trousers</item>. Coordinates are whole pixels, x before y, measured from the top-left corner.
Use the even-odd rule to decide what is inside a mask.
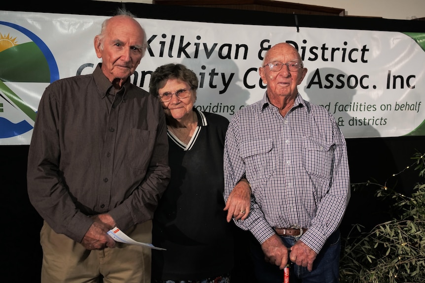
[[[126,11],[94,39],[93,74],[46,88],[28,157],[28,193],[44,219],[42,283],[150,283],[150,250],[115,243],[115,226],[151,242],[170,168],[159,100],[130,83],[146,35]]]

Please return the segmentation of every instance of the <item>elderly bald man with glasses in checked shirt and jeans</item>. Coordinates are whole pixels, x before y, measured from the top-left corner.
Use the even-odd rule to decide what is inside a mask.
[[[270,48],[259,68],[264,97],[241,109],[226,134],[224,198],[248,180],[249,215],[235,222],[253,235],[258,282],[282,283],[287,264],[291,282],[338,282],[347,149],[334,117],[298,93],[306,73],[292,45]]]

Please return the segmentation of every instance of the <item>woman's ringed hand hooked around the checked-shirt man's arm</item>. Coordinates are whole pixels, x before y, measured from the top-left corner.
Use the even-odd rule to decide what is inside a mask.
[[[249,214],[251,202],[251,188],[246,179],[242,179],[236,184],[235,188],[230,192],[227,198],[226,206],[223,210],[227,210],[227,222],[232,218],[235,220],[245,220]],[[242,213],[245,211],[245,213]]]

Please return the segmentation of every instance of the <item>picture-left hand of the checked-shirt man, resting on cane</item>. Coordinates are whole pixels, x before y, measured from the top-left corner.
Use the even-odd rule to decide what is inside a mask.
[[[281,238],[274,234],[268,238],[263,244],[261,249],[264,252],[265,260],[271,264],[279,266],[280,269],[285,268],[288,262],[288,248],[283,245]]]

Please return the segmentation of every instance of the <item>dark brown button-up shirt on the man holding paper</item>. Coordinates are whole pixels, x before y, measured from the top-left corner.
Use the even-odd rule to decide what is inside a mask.
[[[170,178],[159,100],[129,79],[114,92],[100,64],[52,83],[38,107],[27,174],[35,209],[75,241],[92,215],[109,213],[122,230],[152,219]]]

